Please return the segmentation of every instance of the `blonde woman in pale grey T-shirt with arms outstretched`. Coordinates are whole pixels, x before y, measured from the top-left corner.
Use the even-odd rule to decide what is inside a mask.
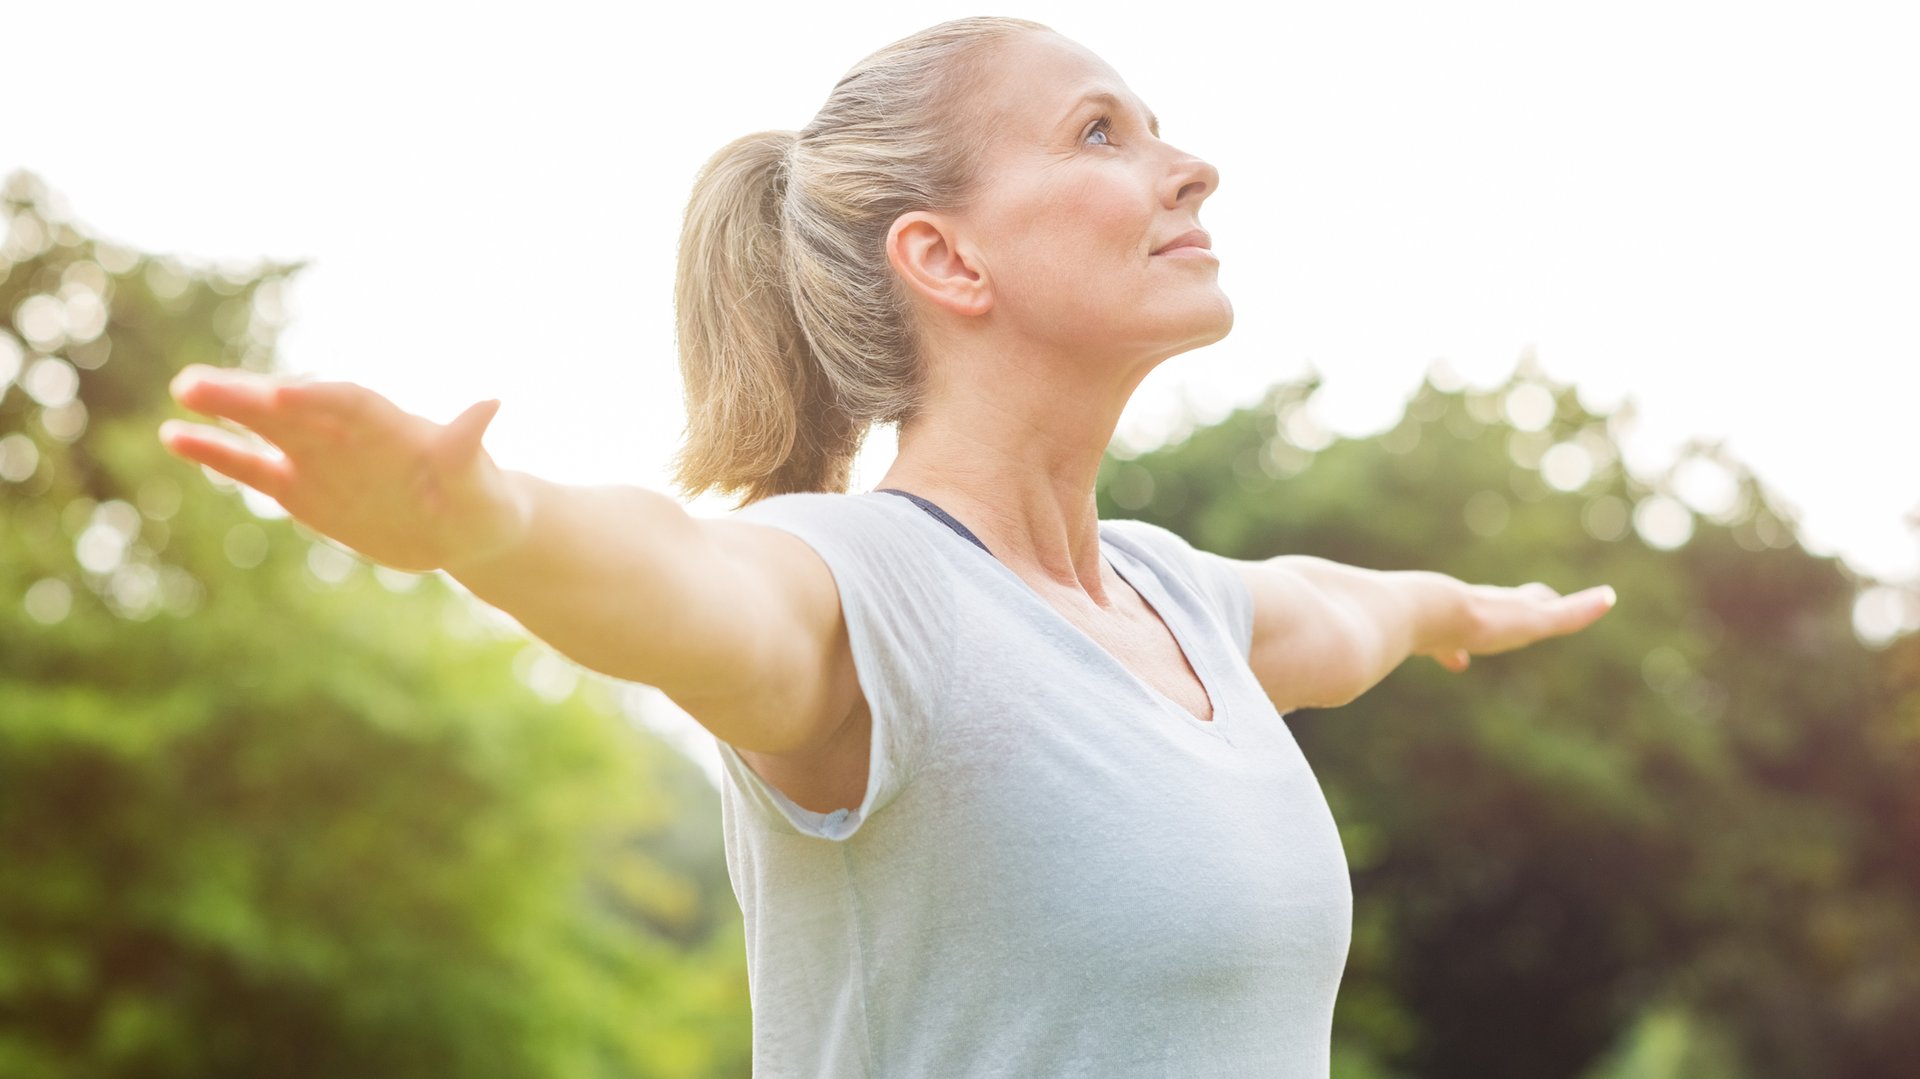
[[[756,1073],[1327,1075],[1352,897],[1281,714],[1613,597],[1096,518],[1135,386],[1233,324],[1217,184],[1079,44],[943,23],[695,184],[678,480],[732,516],[499,470],[497,401],[196,367],[180,403],[284,457],[161,438],[716,735]],[[899,457],[845,493],[876,422]]]

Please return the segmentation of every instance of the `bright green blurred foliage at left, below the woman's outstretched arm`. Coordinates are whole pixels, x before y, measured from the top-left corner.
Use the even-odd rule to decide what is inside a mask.
[[[745,1075],[705,778],[159,445],[182,365],[273,369],[300,265],[84,236],[27,173],[4,213],[0,1075]]]

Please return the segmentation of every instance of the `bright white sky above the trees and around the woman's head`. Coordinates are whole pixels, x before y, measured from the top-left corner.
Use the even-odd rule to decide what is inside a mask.
[[[1365,434],[1436,357],[1532,346],[1634,459],[1726,438],[1816,547],[1920,543],[1920,8],[1659,2],[1020,12],[1106,58],[1221,171],[1236,326],[1167,361],[1135,438],[1313,365]],[[501,397],[495,459],[668,490],[672,273],[693,173],[804,125],[943,4],[31,4],[0,33],[0,173],[192,261],[313,259],[290,369],[432,419]],[[885,468],[883,438],[862,461]],[[858,480],[858,478],[856,478]],[[722,503],[697,503],[720,513]]]

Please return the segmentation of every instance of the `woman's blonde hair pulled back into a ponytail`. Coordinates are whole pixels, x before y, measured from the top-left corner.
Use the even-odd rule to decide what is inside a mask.
[[[964,209],[989,138],[983,48],[1048,31],[973,17],[856,63],[801,131],[735,138],[693,180],[674,280],[685,495],[845,492],[868,430],[924,392],[912,307],[887,232],[912,209]]]

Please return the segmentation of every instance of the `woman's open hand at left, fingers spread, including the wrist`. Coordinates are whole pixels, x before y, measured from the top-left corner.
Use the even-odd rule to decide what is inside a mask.
[[[165,420],[159,442],[171,453],[240,480],[374,563],[445,568],[503,551],[526,532],[524,497],[480,447],[499,401],[436,424],[353,382],[198,363],[169,390],[180,405],[252,428],[280,451],[261,453],[217,426]]]

